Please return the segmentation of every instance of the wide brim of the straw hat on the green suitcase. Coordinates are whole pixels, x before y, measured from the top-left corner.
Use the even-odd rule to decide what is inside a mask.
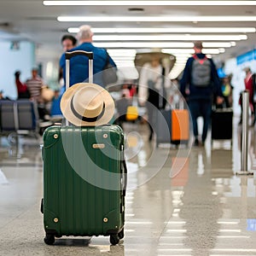
[[[101,94],[102,99],[104,101],[105,110],[104,113],[93,122],[87,122],[83,119],[79,119],[74,113],[71,108],[71,102],[73,99],[74,94],[82,89],[83,87],[94,87]],[[108,93],[108,90],[102,88],[102,86],[97,84],[91,83],[79,83],[74,84],[73,86],[69,87],[63,96],[61,97],[61,112],[63,116],[73,125],[76,126],[97,126],[97,125],[105,125],[113,118],[114,113],[114,102],[112,96]]]

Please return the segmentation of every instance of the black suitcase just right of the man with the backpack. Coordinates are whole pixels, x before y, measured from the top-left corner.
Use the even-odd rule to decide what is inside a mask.
[[[232,108],[216,108],[212,110],[212,140],[231,140],[232,135]]]

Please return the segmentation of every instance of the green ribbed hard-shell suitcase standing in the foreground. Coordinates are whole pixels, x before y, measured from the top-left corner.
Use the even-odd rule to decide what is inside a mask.
[[[118,125],[44,131],[45,243],[61,236],[124,236],[126,166]]]

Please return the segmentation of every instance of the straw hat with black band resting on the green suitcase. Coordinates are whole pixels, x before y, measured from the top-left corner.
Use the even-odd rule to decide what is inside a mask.
[[[104,125],[113,117],[114,102],[108,90],[100,85],[79,83],[61,97],[61,112],[73,125]]]

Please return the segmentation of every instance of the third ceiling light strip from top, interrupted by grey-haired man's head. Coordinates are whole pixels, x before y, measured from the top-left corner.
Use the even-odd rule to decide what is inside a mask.
[[[248,33],[255,27],[92,27],[94,33]],[[79,32],[79,27],[69,27],[70,33]]]

